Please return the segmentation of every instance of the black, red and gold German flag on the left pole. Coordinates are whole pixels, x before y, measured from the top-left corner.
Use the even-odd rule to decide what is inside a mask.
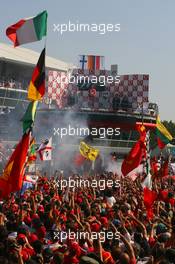
[[[41,52],[29,84],[28,99],[39,101],[45,94],[45,48]]]

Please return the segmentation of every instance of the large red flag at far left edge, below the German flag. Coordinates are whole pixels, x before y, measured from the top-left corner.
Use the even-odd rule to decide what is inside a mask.
[[[30,133],[24,134],[12,153],[2,177],[0,177],[0,197],[8,197],[11,192],[22,187],[25,162],[30,142]]]

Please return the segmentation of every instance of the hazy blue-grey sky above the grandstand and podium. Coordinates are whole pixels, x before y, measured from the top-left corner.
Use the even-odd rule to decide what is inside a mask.
[[[0,0],[0,41],[11,44],[6,28],[18,20],[48,11],[47,55],[77,64],[79,54],[105,56],[120,74],[149,74],[149,101],[161,119],[175,121],[174,0]],[[119,32],[54,32],[53,24],[120,24]],[[23,45],[40,52],[44,41]]]

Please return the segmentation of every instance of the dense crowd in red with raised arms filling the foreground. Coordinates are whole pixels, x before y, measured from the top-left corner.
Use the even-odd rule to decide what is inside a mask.
[[[0,263],[175,263],[173,181],[153,180],[153,190],[168,189],[171,199],[157,198],[148,217],[141,177],[69,179],[87,185],[63,186],[62,173],[39,174],[33,189],[1,201]],[[113,184],[104,187],[108,180]]]

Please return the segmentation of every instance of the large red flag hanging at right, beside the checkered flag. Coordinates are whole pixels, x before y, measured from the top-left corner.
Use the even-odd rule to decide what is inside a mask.
[[[145,128],[143,126],[139,126],[138,131],[140,133],[140,138],[132,147],[128,156],[122,163],[121,171],[124,176],[140,165],[142,157],[146,153],[146,145],[144,143],[146,137]]]

